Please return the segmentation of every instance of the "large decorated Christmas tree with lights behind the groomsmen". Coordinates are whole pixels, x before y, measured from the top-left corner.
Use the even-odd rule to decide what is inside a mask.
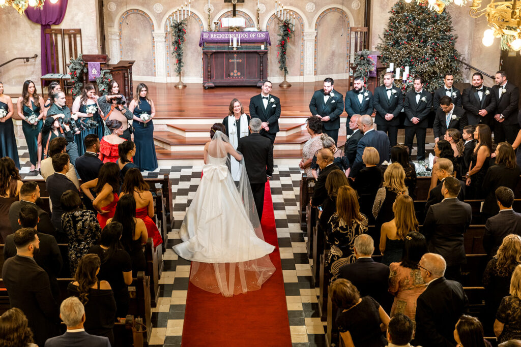
[[[378,49],[381,60],[395,68],[410,68],[410,77],[402,86],[412,87],[414,76],[425,80],[430,92],[443,85],[445,73],[452,73],[455,82],[461,80],[460,53],[455,48],[457,36],[452,34],[451,16],[428,8],[428,3],[399,1],[392,7],[391,16]]]

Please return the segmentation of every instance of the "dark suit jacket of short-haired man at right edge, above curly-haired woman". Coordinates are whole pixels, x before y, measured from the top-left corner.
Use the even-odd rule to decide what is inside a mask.
[[[487,254],[494,256],[505,236],[510,234],[521,236],[521,213],[503,210],[490,217],[485,223],[483,235],[483,248]]]

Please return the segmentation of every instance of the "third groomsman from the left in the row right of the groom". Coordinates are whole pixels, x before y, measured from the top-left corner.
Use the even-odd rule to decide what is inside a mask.
[[[387,133],[391,147],[396,146],[398,142],[398,126],[400,125],[398,114],[403,108],[402,91],[393,83],[394,74],[386,72],[383,75],[383,85],[375,89],[373,96],[376,129]]]

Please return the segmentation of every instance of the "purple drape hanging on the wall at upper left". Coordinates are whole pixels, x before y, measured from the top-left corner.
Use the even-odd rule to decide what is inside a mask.
[[[45,36],[45,29],[51,25],[58,25],[64,20],[67,10],[68,0],[59,0],[56,4],[46,1],[43,9],[29,6],[26,9],[26,16],[34,23],[41,24],[41,45],[42,45],[42,76],[48,73],[47,66],[51,65],[51,42]]]

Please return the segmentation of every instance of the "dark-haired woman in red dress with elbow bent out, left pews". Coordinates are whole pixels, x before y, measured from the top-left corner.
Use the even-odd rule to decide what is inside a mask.
[[[92,195],[91,188],[96,192],[96,198]],[[107,220],[114,217],[119,191],[119,168],[116,163],[107,162],[100,169],[98,178],[81,185],[85,196],[89,197],[92,205],[98,211],[97,220],[103,229]]]

